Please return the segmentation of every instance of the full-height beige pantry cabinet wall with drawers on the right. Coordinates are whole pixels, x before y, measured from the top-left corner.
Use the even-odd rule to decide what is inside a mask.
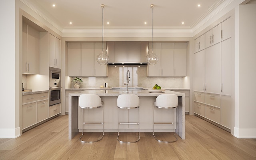
[[[231,130],[232,23],[229,17],[194,40],[194,113]],[[199,42],[205,37],[205,47]]]

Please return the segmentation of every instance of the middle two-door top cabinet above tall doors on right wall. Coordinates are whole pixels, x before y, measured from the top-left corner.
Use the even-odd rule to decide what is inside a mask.
[[[214,28],[205,33],[205,48],[217,44],[221,39],[221,25],[218,24]]]

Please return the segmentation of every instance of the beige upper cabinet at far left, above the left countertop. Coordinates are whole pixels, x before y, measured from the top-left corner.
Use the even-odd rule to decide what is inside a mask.
[[[22,25],[22,73],[40,73],[40,32],[26,23]]]

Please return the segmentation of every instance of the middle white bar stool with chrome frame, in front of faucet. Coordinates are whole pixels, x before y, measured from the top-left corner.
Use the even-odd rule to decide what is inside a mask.
[[[140,140],[140,98],[136,94],[121,94],[117,98],[118,108],[118,136],[117,140],[121,143],[135,143]],[[138,122],[128,122],[128,109],[138,108]],[[126,109],[126,122],[119,122],[119,109]],[[138,125],[138,140],[126,142],[119,139],[119,125]]]

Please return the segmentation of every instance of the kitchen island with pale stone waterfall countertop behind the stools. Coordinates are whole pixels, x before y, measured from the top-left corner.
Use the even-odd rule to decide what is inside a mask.
[[[85,114],[84,118],[89,117],[92,120],[97,120],[102,118],[100,109],[104,112],[104,132],[117,132],[118,128],[118,109],[117,109],[117,97],[120,94],[136,94],[140,98],[140,132],[152,132],[153,131],[153,102],[156,97],[160,94],[176,94],[178,96],[178,108],[176,108],[176,134],[180,138],[185,139],[185,94],[180,92],[168,91],[160,93],[151,93],[147,90],[142,91],[132,91],[132,92],[122,92],[122,91],[112,91],[112,90],[84,90],[78,91],[76,93],[68,94],[68,139],[72,139],[78,132],[81,132],[82,128],[82,109],[78,105],[78,97],[81,94],[97,94],[100,96],[104,102],[104,107],[96,110],[90,111],[90,114]],[[172,114],[170,112],[165,112],[164,110],[158,111],[160,119],[162,117],[170,117],[172,120]],[[122,114],[122,112],[120,113]],[[132,119],[133,114],[136,111],[129,111],[129,117]],[[163,114],[166,114],[164,116]],[[155,114],[156,115],[156,114]],[[163,115],[163,116],[162,116]],[[136,117],[136,116],[135,116]],[[129,119],[130,119],[129,118]],[[166,120],[166,119],[164,119]],[[170,126],[162,126],[162,128],[156,128],[156,132],[170,132]],[[135,128],[130,128],[136,130]],[[85,132],[102,132],[101,127],[92,126],[85,127]],[[131,130],[125,130],[128,132]],[[172,131],[171,131],[172,132]]]

